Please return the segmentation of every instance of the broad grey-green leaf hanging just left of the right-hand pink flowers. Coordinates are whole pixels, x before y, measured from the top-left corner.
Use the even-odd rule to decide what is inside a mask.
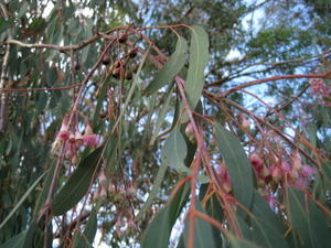
[[[253,201],[253,173],[250,163],[239,141],[221,125],[214,125],[217,147],[229,173],[234,195],[245,206]]]

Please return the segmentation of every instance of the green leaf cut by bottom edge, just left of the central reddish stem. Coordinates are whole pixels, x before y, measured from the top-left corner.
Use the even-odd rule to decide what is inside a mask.
[[[172,227],[188,201],[189,192],[190,184],[186,183],[170,200],[167,206],[156,215],[142,236],[142,248],[168,247]]]

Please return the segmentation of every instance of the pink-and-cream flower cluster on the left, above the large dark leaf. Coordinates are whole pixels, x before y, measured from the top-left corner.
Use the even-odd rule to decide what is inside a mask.
[[[92,127],[88,122],[85,126],[83,134],[77,130],[77,128],[75,128],[75,130],[70,129],[67,118],[64,118],[52,150],[55,154],[58,154],[62,144],[65,142],[65,159],[71,160],[73,164],[77,164],[79,161],[79,149],[83,147],[96,148],[99,141],[99,136],[93,133]]]

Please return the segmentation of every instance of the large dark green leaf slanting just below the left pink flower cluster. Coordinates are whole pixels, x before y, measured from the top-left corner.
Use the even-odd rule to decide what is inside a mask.
[[[98,170],[104,147],[97,148],[74,171],[66,184],[54,196],[52,209],[55,216],[62,215],[74,207],[87,193],[93,176]]]

